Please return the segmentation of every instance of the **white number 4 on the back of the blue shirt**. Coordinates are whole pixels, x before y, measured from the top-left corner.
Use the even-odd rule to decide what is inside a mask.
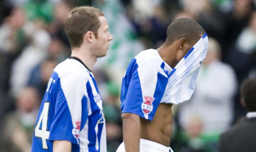
[[[46,140],[49,139],[50,131],[47,131],[47,121],[48,121],[48,112],[49,112],[49,102],[45,102],[43,105],[43,111],[38,120],[37,126],[35,128],[35,136],[42,139],[42,148],[47,150],[48,146]],[[41,129],[39,127],[41,126]]]

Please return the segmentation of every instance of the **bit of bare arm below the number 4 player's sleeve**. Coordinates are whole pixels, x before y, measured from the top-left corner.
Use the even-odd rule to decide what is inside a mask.
[[[53,152],[71,152],[71,142],[67,140],[55,140]]]

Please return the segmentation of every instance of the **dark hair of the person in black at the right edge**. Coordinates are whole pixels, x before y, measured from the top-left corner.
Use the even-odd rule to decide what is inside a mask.
[[[240,87],[241,97],[245,100],[248,111],[256,111],[256,77],[247,78]]]

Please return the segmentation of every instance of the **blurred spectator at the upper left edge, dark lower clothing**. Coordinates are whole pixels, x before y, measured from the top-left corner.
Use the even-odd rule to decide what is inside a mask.
[[[9,90],[10,69],[14,59],[21,53],[33,31],[33,25],[26,22],[25,12],[20,7],[10,7],[0,25],[0,76],[1,88],[6,93]]]

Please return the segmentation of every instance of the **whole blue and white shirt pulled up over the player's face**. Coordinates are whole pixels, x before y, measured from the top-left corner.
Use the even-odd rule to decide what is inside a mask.
[[[122,113],[135,113],[151,121],[159,103],[178,104],[189,100],[207,48],[208,37],[204,34],[174,69],[163,61],[158,51],[140,52],[123,76]]]

